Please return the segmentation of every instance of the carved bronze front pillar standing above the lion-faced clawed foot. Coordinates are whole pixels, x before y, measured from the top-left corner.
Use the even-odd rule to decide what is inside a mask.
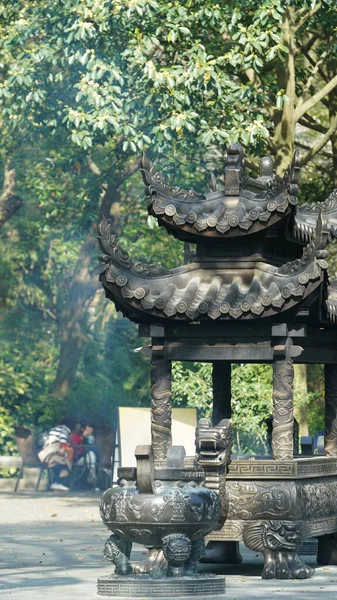
[[[272,450],[273,458],[278,460],[293,458],[293,387],[292,359],[277,360],[274,363]]]

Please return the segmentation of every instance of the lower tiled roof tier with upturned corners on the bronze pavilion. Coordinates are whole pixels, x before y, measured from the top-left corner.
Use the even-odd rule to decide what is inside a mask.
[[[323,281],[327,262],[320,250],[319,227],[302,259],[280,268],[258,262],[241,277],[214,263],[192,263],[172,270],[134,263],[111,233],[105,217],[99,226],[104,254],[100,279],[107,295],[125,314],[160,318],[257,318],[287,310]],[[324,251],[323,251],[324,252]],[[128,314],[129,316],[129,314]],[[130,318],[133,318],[130,316]]]

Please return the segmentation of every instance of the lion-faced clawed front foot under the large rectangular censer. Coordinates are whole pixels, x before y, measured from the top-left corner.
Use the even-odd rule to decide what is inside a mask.
[[[298,555],[301,536],[297,523],[257,521],[246,525],[243,541],[255,552],[263,552],[263,579],[308,579],[314,569]]]

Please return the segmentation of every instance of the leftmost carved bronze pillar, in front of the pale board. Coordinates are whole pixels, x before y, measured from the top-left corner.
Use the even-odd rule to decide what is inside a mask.
[[[152,356],[151,441],[155,461],[165,460],[172,443],[171,362]]]

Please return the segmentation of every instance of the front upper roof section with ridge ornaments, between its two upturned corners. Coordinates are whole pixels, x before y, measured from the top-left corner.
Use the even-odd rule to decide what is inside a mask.
[[[255,232],[282,219],[297,204],[299,171],[297,153],[282,179],[275,176],[273,160],[264,157],[260,175],[253,179],[247,174],[239,144],[228,149],[224,189],[218,189],[211,174],[208,194],[171,186],[145,156],[141,168],[150,214],[168,229],[213,237],[231,230],[236,235]]]

